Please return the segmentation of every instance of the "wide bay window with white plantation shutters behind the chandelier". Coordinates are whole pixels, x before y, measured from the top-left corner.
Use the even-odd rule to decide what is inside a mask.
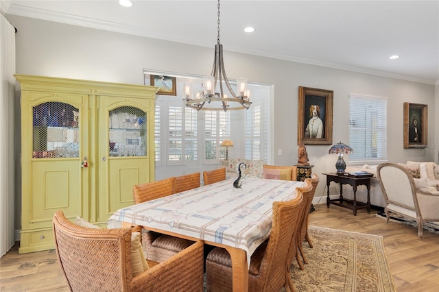
[[[150,84],[150,74],[163,73],[145,71],[145,85]],[[176,76],[177,96],[157,95],[154,119],[156,167],[179,166],[183,169],[186,165],[218,164],[226,157],[224,147],[219,147],[226,138],[234,143],[234,147],[228,149],[229,158],[267,160],[270,86],[248,84],[252,92],[249,110],[198,112],[186,108],[179,96],[185,82],[194,84],[194,92],[202,90],[195,86],[201,84],[200,77],[179,74]]]

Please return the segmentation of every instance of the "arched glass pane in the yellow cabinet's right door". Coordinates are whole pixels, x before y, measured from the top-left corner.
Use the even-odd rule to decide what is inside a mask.
[[[109,116],[110,156],[146,156],[146,112],[122,106]]]

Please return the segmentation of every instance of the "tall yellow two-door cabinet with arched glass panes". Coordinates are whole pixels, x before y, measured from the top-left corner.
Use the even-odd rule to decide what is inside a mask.
[[[157,88],[15,75],[21,85],[20,253],[54,248],[56,210],[101,226],[154,181]]]

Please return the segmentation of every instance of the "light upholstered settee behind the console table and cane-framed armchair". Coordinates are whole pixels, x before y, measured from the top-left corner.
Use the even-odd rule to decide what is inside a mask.
[[[421,166],[421,163],[423,164]],[[407,163],[399,163],[405,167],[413,176],[413,178],[427,178],[427,184],[429,186],[429,191],[439,191],[439,166],[434,162],[414,162],[407,161]],[[374,177],[370,179],[370,204],[379,207],[385,207],[385,199],[383,192],[381,191],[381,185],[377,178],[377,167],[378,165],[363,165],[358,167],[346,167],[346,172],[355,171],[367,171],[373,173]],[[364,186],[359,186],[357,188],[357,200],[359,202],[367,202],[367,189]],[[343,197],[347,199],[353,199],[352,188],[343,188]]]

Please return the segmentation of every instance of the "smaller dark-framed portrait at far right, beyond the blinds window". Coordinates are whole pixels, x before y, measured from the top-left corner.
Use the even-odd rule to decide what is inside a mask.
[[[404,103],[404,148],[427,147],[427,117],[426,104]]]

